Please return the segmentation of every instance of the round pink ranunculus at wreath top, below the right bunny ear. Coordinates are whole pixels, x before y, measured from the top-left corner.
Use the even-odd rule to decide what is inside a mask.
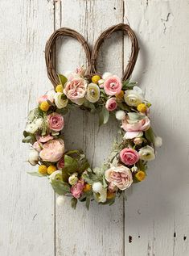
[[[112,76],[105,79],[104,89],[105,94],[109,96],[113,96],[115,94],[119,94],[121,92],[121,80],[117,76]]]

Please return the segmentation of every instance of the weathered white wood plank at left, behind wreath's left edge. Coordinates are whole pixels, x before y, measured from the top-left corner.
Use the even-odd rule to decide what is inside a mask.
[[[5,256],[54,254],[53,192],[48,182],[27,174],[35,167],[24,161],[29,147],[21,143],[28,110],[50,88],[43,50],[53,30],[51,2],[0,2],[0,254]]]

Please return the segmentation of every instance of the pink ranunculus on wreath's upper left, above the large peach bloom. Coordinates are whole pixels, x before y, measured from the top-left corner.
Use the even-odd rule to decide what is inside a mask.
[[[64,117],[60,114],[52,113],[47,116],[49,128],[55,132],[60,132],[64,128]]]

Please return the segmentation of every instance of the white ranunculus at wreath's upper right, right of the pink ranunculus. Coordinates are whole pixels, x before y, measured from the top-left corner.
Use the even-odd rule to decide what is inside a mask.
[[[131,107],[138,107],[144,101],[142,90],[138,86],[134,86],[133,90],[125,90],[125,103]]]

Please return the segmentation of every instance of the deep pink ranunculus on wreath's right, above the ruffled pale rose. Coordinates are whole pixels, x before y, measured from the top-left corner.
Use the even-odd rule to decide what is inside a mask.
[[[140,156],[139,153],[134,149],[122,149],[120,152],[121,162],[127,166],[133,166],[138,162]]]

